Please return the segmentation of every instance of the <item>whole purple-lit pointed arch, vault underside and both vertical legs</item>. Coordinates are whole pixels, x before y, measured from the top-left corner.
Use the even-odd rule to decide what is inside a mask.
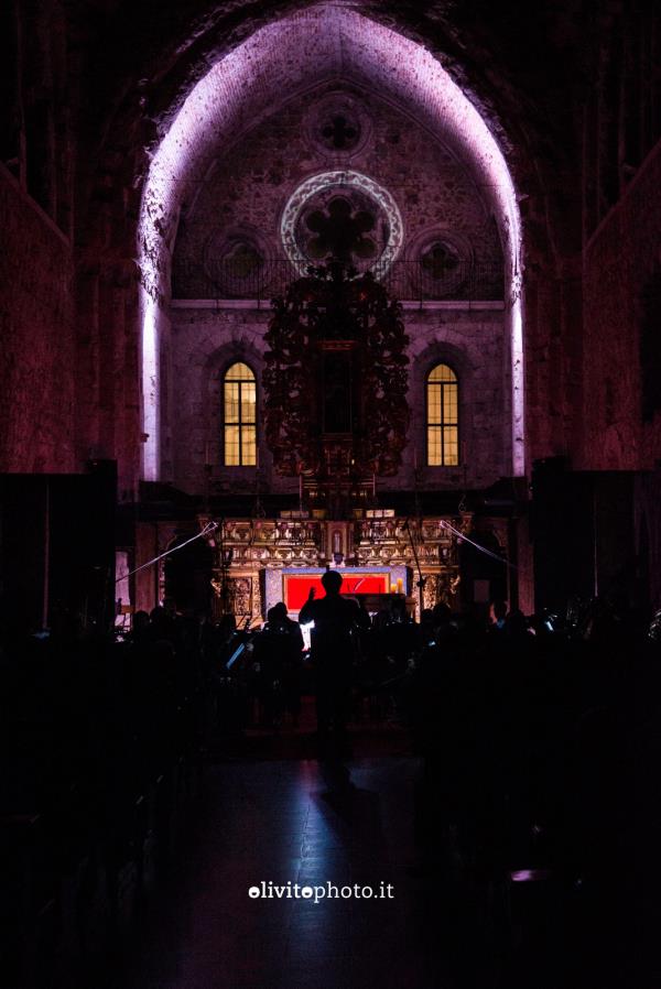
[[[460,88],[414,42],[351,10],[321,4],[256,32],[204,75],[163,133],[150,167],[139,232],[142,271],[143,477],[161,476],[169,347],[171,250],[180,211],[194,200],[218,149],[273,109],[273,94],[292,97],[325,78],[354,78],[384,99],[409,106],[460,159],[485,191],[506,259],[507,329],[512,387],[512,464],[524,472],[521,235],[503,154]]]

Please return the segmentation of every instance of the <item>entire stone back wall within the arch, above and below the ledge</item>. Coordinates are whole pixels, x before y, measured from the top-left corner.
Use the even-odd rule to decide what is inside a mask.
[[[354,84],[317,86],[256,124],[229,150],[219,149],[213,171],[182,216],[173,252],[173,294],[180,302],[172,308],[172,387],[167,402],[162,400],[163,433],[171,435],[163,474],[186,491],[204,490],[207,457],[213,490],[254,490],[254,469],[220,466],[220,385],[225,368],[237,359],[245,359],[259,381],[269,320],[268,304],[257,309],[237,301],[209,308],[195,300],[240,295],[240,279],[231,284],[223,267],[227,261],[250,265],[254,256],[283,259],[280,229],[288,199],[307,176],[337,169],[360,172],[393,196],[403,221],[400,259],[420,261],[437,237],[462,262],[501,269],[496,224],[466,167],[413,118]],[[373,232],[378,240],[378,230]],[[442,360],[455,368],[462,384],[462,466],[424,468],[420,483],[460,490],[486,487],[510,472],[509,341],[502,304],[473,309],[449,305],[407,311],[412,423],[402,469],[383,481],[387,488],[410,488],[414,463],[424,465],[424,379]],[[162,448],[167,449],[166,443]],[[272,490],[294,490],[295,480],[272,476],[263,444],[260,467]]]

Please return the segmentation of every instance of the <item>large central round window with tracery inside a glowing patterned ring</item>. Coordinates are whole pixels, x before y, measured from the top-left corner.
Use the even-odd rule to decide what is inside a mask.
[[[337,258],[381,278],[401,249],[403,225],[388,189],[360,172],[332,171],[313,175],[293,193],[281,236],[300,274]]]

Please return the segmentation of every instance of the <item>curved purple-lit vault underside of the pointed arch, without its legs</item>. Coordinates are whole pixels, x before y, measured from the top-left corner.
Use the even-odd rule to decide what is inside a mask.
[[[218,153],[264,115],[323,79],[353,79],[405,109],[451,148],[483,191],[516,254],[518,209],[501,141],[420,44],[344,4],[318,3],[259,29],[191,90],[154,149],[143,252],[171,240]],[[158,267],[162,271],[162,265]],[[513,259],[516,268],[516,258]]]

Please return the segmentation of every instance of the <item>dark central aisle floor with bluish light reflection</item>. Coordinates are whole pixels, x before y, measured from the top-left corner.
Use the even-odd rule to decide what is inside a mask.
[[[193,848],[117,989],[451,986],[411,869],[418,772],[411,758],[210,769]],[[393,899],[250,899],[262,881],[391,883]]]

